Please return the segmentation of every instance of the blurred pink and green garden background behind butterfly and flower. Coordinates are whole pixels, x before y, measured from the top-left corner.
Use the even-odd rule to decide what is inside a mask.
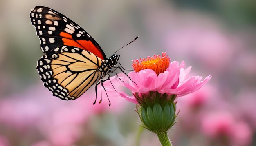
[[[37,5],[72,19],[112,55],[132,60],[167,52],[192,75],[213,78],[177,99],[173,146],[256,145],[255,0],[0,0],[0,146],[159,146],[139,130],[135,104],[52,97],[40,81],[43,55],[29,13]],[[99,101],[99,100],[98,100]]]

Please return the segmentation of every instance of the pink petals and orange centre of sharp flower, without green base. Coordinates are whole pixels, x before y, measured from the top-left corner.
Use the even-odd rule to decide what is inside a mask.
[[[200,76],[188,77],[191,67],[185,69],[184,61],[180,64],[177,61],[173,61],[168,63],[168,66],[164,66],[163,64],[166,64],[166,62],[164,62],[166,58],[168,58],[168,62],[170,62],[170,58],[165,55],[166,53],[162,53],[162,56],[155,55],[154,57],[148,57],[146,60],[141,59],[141,64],[153,62],[154,66],[152,69],[147,69],[146,67],[148,66],[144,66],[140,67],[141,70],[138,70],[136,66],[141,66],[141,64],[139,64],[138,60],[135,60],[133,64],[135,71],[128,74],[131,80],[122,75],[121,80],[124,82],[120,83],[131,90],[133,94],[148,94],[150,91],[157,91],[161,94],[166,93],[168,95],[183,96],[197,91],[211,79],[211,75],[206,77],[203,81],[201,81],[202,77]],[[160,61],[160,66],[155,65],[158,60],[163,60],[163,58],[164,61]],[[152,66],[149,65],[149,67]],[[158,69],[161,70],[160,73]],[[130,97],[123,92],[120,93],[120,95],[130,102],[138,103],[135,97]]]

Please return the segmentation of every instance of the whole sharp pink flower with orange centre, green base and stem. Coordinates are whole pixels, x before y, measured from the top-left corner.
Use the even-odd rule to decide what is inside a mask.
[[[191,67],[184,68],[184,61],[170,61],[165,53],[133,60],[134,71],[120,77],[121,85],[132,91],[133,96],[119,93],[121,97],[137,104],[136,111],[141,126],[156,133],[162,145],[171,145],[167,131],[175,124],[177,96],[183,96],[200,89],[211,79],[203,81],[200,76],[187,77]],[[165,137],[163,140],[162,137]],[[166,144],[168,142],[168,144]]]

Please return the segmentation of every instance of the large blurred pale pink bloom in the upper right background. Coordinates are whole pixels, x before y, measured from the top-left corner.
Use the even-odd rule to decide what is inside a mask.
[[[240,45],[239,38],[234,38],[216,26],[187,24],[180,27],[167,34],[166,48],[174,54],[187,55],[215,71],[227,68]]]

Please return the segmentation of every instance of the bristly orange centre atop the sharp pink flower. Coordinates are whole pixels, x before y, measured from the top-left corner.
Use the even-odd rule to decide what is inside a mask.
[[[140,62],[139,62],[140,60]],[[170,65],[170,58],[166,55],[166,52],[161,55],[154,55],[153,57],[148,56],[147,58],[139,58],[132,60],[132,67],[135,72],[139,72],[143,69],[152,69],[157,75],[164,73]]]

